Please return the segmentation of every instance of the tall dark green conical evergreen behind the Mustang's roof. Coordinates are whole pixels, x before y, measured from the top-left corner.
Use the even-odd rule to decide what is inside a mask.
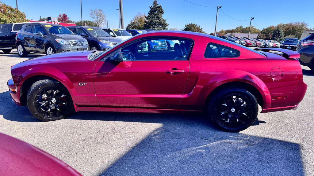
[[[154,0],[153,5],[149,6],[149,12],[144,23],[144,28],[159,30],[167,29],[168,24],[166,23],[166,20],[162,18],[163,14],[164,9],[157,3],[157,0]]]

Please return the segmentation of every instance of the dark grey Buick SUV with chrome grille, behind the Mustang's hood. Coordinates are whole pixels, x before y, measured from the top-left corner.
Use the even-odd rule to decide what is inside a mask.
[[[34,53],[61,53],[86,51],[89,45],[86,39],[76,35],[59,24],[28,23],[17,33],[16,48],[19,56]]]

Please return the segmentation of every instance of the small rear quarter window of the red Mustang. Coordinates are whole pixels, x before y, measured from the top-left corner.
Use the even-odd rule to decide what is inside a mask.
[[[239,56],[239,50],[215,43],[207,44],[204,54],[205,58],[230,58]]]

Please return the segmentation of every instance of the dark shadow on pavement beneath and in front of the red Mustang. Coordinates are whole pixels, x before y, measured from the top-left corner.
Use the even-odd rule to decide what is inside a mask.
[[[0,99],[0,115],[5,119],[41,122],[27,106],[14,105],[8,92],[0,93]],[[223,132],[200,113],[78,112],[68,119],[161,124],[111,165],[99,163],[105,166],[98,172],[101,176],[304,175],[299,144],[246,131]],[[257,120],[255,125],[260,123],[264,122]]]

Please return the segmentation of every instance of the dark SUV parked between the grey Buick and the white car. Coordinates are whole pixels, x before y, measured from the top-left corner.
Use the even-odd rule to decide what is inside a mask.
[[[75,34],[84,37],[89,44],[90,50],[107,50],[122,42],[121,39],[111,37],[101,28],[90,26],[68,26],[67,28]]]

